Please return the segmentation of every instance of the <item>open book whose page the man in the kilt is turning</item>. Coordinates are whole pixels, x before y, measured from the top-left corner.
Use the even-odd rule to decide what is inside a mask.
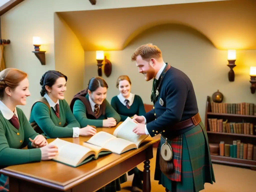
[[[101,147],[102,150],[109,150],[117,154],[122,154],[131,149],[137,149],[148,135],[137,135],[133,133],[132,130],[136,125],[130,117],[127,117],[115,129],[113,135],[100,131],[93,135],[87,142],[84,142],[84,145],[89,143]]]

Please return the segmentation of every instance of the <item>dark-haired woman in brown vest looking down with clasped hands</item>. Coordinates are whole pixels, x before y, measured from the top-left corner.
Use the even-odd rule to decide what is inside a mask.
[[[120,121],[120,115],[106,100],[108,84],[101,77],[93,77],[88,88],[77,93],[70,103],[71,111],[80,126],[113,127]],[[121,190],[121,183],[127,181],[126,174],[99,189],[97,192]]]

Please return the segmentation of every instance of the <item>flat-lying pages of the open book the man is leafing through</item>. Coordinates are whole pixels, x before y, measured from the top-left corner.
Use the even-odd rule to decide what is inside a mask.
[[[85,143],[97,145],[101,147],[101,150],[104,148],[117,154],[121,154],[130,149],[137,148],[136,144],[122,138],[116,138],[114,135],[104,131],[96,133]],[[98,150],[100,150],[100,148],[98,148]]]

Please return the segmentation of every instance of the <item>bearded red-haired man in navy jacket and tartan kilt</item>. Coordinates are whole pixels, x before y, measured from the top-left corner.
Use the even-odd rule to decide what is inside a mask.
[[[133,117],[138,123],[133,132],[152,137],[161,134],[154,179],[171,192],[197,192],[205,183],[213,184],[208,137],[192,82],[185,73],[164,63],[161,50],[152,44],[138,47],[132,61],[146,81],[153,79],[153,109],[145,116]]]

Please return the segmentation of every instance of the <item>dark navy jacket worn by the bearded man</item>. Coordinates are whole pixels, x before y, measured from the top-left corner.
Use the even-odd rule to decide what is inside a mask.
[[[170,67],[158,91],[159,95],[154,103],[154,109],[144,115],[147,130],[152,137],[164,130],[172,129],[174,124],[198,113],[193,84],[179,69]],[[160,98],[163,100],[163,106],[159,103]],[[178,134],[186,131],[188,130],[180,130]]]

